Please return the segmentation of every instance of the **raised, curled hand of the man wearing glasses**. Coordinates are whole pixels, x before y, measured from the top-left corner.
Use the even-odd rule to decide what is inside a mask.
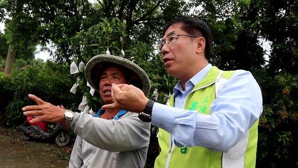
[[[112,84],[112,98],[114,103],[103,105],[101,108],[118,108],[140,113],[144,110],[148,101],[141,89],[128,84]]]

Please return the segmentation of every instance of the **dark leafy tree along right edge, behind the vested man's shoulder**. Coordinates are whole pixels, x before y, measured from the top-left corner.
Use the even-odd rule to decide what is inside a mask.
[[[254,0],[260,36],[271,42],[262,82],[264,112],[259,125],[260,167],[298,167],[298,2]]]

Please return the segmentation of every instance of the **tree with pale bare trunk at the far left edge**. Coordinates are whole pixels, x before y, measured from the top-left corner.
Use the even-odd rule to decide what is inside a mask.
[[[10,2],[10,3],[8,3]],[[16,55],[16,50],[21,49],[20,53],[24,51],[29,51],[31,54],[27,53],[26,58],[32,58],[33,52],[35,51],[34,47],[31,47],[31,50],[28,50],[29,46],[36,45],[36,36],[32,34],[35,33],[36,24],[34,20],[31,20],[26,14],[24,14],[23,7],[26,6],[23,1],[1,1],[0,7],[1,11],[4,11],[0,18],[5,22],[5,37],[7,39],[8,51],[5,64],[5,75],[11,74],[12,67]],[[7,12],[8,11],[8,12]],[[11,11],[11,12],[9,12]],[[12,12],[13,11],[13,12]],[[10,17],[11,20],[5,19]],[[25,49],[25,50],[22,50]],[[32,50],[33,49],[33,50]],[[33,51],[33,52],[32,52]],[[34,57],[34,55],[33,55]]]

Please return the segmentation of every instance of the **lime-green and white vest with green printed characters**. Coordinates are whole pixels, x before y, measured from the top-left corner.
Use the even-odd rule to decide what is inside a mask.
[[[188,95],[184,109],[196,109],[210,115],[210,105],[217,92],[233,73],[234,71],[221,71],[214,66]],[[174,96],[167,104],[174,106]],[[161,152],[155,160],[154,168],[255,168],[257,140],[258,121],[228,153],[213,152],[199,146],[178,148],[174,145],[170,149],[170,134],[159,128],[158,143]]]

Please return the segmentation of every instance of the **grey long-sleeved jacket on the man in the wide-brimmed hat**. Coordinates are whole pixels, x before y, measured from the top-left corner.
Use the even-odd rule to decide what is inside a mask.
[[[69,168],[144,168],[150,125],[133,112],[118,120],[75,113],[71,127],[77,137]]]

